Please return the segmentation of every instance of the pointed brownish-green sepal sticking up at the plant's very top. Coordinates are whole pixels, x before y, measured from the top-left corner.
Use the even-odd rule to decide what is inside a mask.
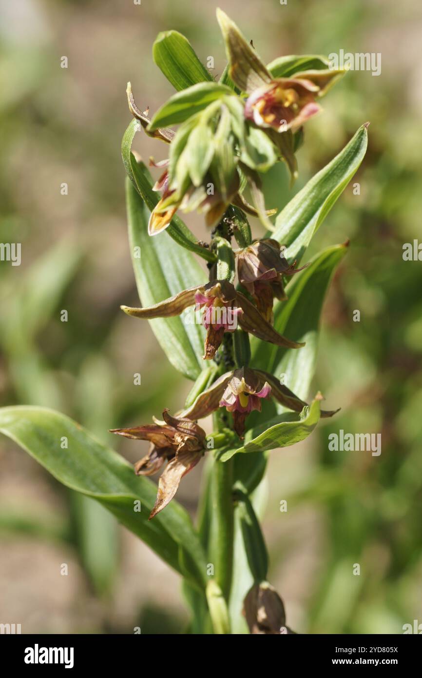
[[[226,43],[229,75],[234,84],[250,94],[254,89],[270,83],[271,75],[255,49],[247,43],[236,24],[219,8],[217,20]]]

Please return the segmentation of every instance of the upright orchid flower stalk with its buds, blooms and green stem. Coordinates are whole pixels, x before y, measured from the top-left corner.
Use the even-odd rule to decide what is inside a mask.
[[[197,337],[188,332],[189,325],[202,325],[204,340],[202,355],[196,354],[202,369],[194,376],[196,382],[184,407],[175,414],[164,410],[163,420],[154,419],[153,424],[114,429],[114,433],[150,441],[150,451],[135,465],[135,473],[163,471],[150,519],[166,511],[184,475],[207,456],[198,537],[210,571],[201,604],[192,605],[192,612],[203,629],[212,623],[214,633],[231,632],[228,610],[234,595],[237,521],[253,581],[244,592],[245,620],[250,633],[274,635],[291,631],[285,626],[282,600],[267,581],[268,552],[251,498],[265,472],[266,457],[251,458],[251,452],[242,466],[235,455],[293,444],[309,435],[320,417],[331,417],[337,410],[320,410],[320,395],[309,405],[284,385],[279,375],[266,369],[262,360],[256,364],[257,346],[266,346],[268,353],[271,349],[272,357],[301,351],[305,346],[303,335],[286,337],[274,323],[274,302],[287,300],[289,280],[305,275],[301,272],[306,265],[298,268],[296,260],[285,256],[286,248],[277,239],[270,219],[275,210],[266,205],[262,176],[282,161],[294,180],[303,125],[320,113],[319,98],[343,73],[330,71],[319,57],[312,60],[318,68],[303,71],[301,59],[292,57],[288,75],[279,72],[282,62],[274,74],[272,65],[263,64],[255,47],[220,9],[217,20],[228,57],[219,83],[208,77],[200,62],[190,75],[186,72],[186,59],[192,61],[196,56],[183,36],[170,32],[160,37],[154,54],[177,92],[150,117],[148,110],[142,111],[135,103],[130,84],[127,89],[129,111],[136,124],[167,144],[161,144],[167,148],[165,157],[150,163],[160,172],[154,184],[146,176],[146,167],[141,169],[130,155],[131,130],[125,140],[125,167],[150,210],[147,237],[154,243],[165,242],[165,232],[176,239],[176,230],[176,241],[191,251],[190,256],[196,252],[207,260],[209,281],[204,283],[198,275],[192,279],[178,269],[180,280],[189,278],[188,285],[172,286],[169,294],[162,294],[169,285],[161,285],[159,294],[148,295],[148,305],[121,306],[131,317],[152,321],[153,328],[155,322],[171,327],[172,333],[176,326],[181,327],[181,336],[188,338],[187,351],[192,350],[192,340]],[[168,62],[167,49],[171,54]],[[186,57],[180,64],[178,49]],[[296,67],[292,59],[297,59]],[[185,84],[179,87],[181,82]],[[253,204],[245,198],[247,188]],[[209,228],[207,241],[198,241],[190,233],[177,216],[180,211],[204,215]],[[259,218],[266,235],[253,237],[248,216]],[[269,235],[272,231],[274,237]],[[155,253],[159,247],[154,244]],[[170,256],[177,258],[177,252]],[[192,270],[198,271],[193,263]],[[148,279],[148,285],[154,292],[154,279]],[[308,364],[306,360],[304,364]],[[278,408],[280,414],[266,420],[268,405],[264,403],[272,403],[272,412]],[[284,410],[289,411],[287,416]],[[213,416],[211,435],[198,423],[209,415]],[[258,435],[251,422],[259,422]],[[285,433],[287,430],[291,433]],[[195,599],[193,594],[190,598]]]

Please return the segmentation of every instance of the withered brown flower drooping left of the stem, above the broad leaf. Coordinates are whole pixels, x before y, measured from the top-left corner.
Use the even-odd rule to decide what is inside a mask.
[[[159,479],[159,490],[150,519],[173,499],[182,477],[192,471],[205,452],[205,431],[188,418],[172,417],[163,412],[163,422],[134,428],[114,428],[111,433],[126,438],[149,440],[148,454],[135,464],[136,475],[153,475],[167,461]]]

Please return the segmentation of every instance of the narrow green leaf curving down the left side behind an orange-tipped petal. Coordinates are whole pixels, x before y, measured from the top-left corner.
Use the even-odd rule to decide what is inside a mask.
[[[133,119],[129,126],[126,129],[125,134],[122,139],[122,158],[123,164],[125,165],[126,172],[131,180],[136,191],[140,194],[142,199],[145,201],[148,210],[152,212],[154,207],[159,202],[159,197],[156,191],[152,191],[152,186],[154,182],[150,172],[148,172],[147,167],[142,162],[137,162],[133,153],[131,153],[131,145],[133,142],[133,137],[136,132],[140,129],[140,123],[138,120]],[[207,261],[215,261],[215,254],[210,252],[206,247],[199,245],[198,239],[194,236],[189,228],[182,222],[177,214],[173,216],[171,224],[167,227],[167,233],[173,240],[178,244],[185,247],[186,250],[195,252],[199,254],[203,259]],[[157,236],[154,236],[157,237]]]

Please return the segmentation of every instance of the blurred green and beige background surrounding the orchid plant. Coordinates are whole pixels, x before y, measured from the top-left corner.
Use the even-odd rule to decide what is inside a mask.
[[[418,0],[219,5],[266,62],[339,49],[382,55],[379,77],[348,73],[307,123],[293,191],[284,167],[266,177],[268,206],[282,207],[371,121],[366,159],[310,252],[351,241],[325,304],[315,379],[327,407],[342,409],[308,440],[272,452],[263,530],[269,578],[293,629],[402,633],[403,624],[422,622],[422,264],[402,260],[404,243],[422,242],[421,7]],[[21,266],[0,262],[0,403],[61,410],[132,462],[143,444],[117,440],[108,428],[177,409],[190,384],[163,359],[149,326],[119,311],[137,304],[120,157],[130,120],[125,88],[130,80],[150,111],[172,94],[151,56],[156,34],[169,28],[184,33],[203,62],[213,56],[220,75],[215,7],[0,1],[0,241],[22,243]],[[68,68],[60,68],[62,56]],[[145,135],[135,147],[144,159],[165,157]],[[201,217],[186,221],[205,237]],[[339,428],[381,433],[381,456],[329,452],[328,435]],[[200,466],[178,493],[192,515]],[[177,576],[5,439],[0,538],[0,622],[22,624],[22,633],[184,629]]]

